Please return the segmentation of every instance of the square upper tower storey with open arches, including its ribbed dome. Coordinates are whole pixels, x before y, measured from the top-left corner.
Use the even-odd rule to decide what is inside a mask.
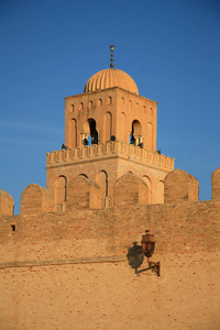
[[[156,151],[157,103],[139,95],[127,73],[109,68],[96,73],[84,94],[66,98],[65,144],[80,147],[113,139]]]

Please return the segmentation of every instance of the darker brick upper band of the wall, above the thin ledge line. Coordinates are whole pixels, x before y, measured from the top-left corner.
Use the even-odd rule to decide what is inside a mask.
[[[157,254],[216,251],[219,212],[219,201],[199,201],[2,217],[1,262],[125,257],[147,228]]]

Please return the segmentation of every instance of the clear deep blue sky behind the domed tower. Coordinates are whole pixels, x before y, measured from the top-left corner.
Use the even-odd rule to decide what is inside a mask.
[[[157,148],[211,198],[220,166],[220,1],[1,0],[0,189],[15,213],[46,186],[46,152],[64,143],[64,97],[109,67],[158,102]]]

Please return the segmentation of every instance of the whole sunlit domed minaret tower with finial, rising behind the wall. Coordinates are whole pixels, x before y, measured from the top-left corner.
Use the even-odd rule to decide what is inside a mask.
[[[145,182],[145,204],[163,202],[163,180],[174,160],[156,152],[157,103],[113,68],[113,45],[110,51],[110,68],[89,78],[82,94],[65,98],[65,150],[47,154],[55,205],[65,205],[70,180],[85,176],[100,186],[102,207],[111,207],[113,186],[128,173]]]

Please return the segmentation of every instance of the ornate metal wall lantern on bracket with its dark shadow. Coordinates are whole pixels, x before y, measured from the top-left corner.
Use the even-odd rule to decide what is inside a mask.
[[[157,276],[161,276],[161,263],[152,262],[150,257],[154,253],[155,248],[155,239],[153,234],[150,234],[150,230],[146,230],[146,233],[142,235],[141,245],[138,245],[138,242],[133,243],[133,246],[129,249],[127,254],[129,264],[132,268],[135,270],[136,276],[140,276],[140,273],[152,270],[152,272],[156,273]],[[138,268],[142,265],[144,255],[147,257],[148,267],[138,271]]]

